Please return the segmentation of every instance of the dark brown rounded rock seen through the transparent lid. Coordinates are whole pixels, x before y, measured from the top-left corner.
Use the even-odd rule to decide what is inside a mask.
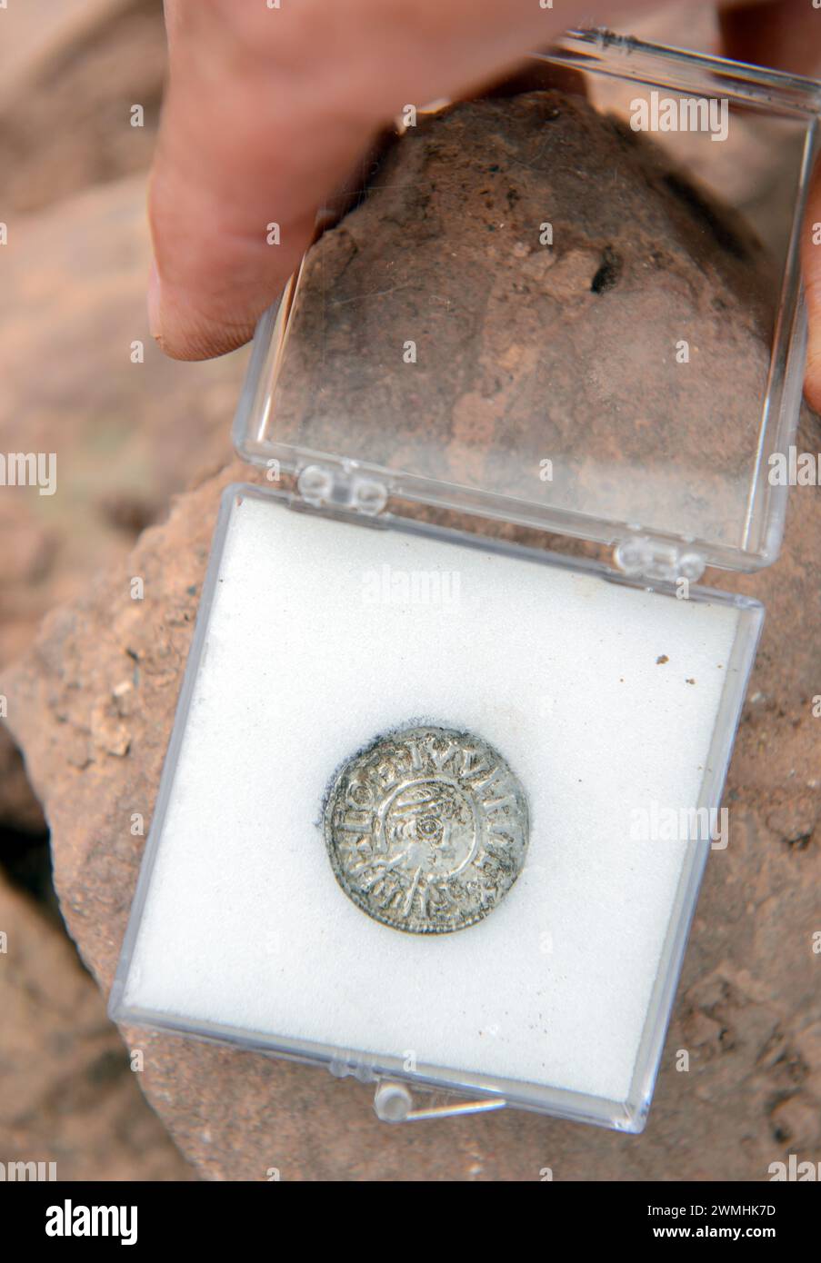
[[[738,543],[774,297],[741,218],[584,99],[458,105],[308,255],[274,433]]]

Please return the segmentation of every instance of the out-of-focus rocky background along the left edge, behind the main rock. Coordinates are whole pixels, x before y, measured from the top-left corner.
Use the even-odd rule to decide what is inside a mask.
[[[49,609],[121,563],[192,475],[225,464],[244,368],[243,355],[172,364],[148,335],[144,173],[164,75],[162,4],[57,9],[10,5],[0,40],[13,299],[0,311],[0,451],[56,452],[58,486],[0,495],[0,666],[27,652]],[[133,104],[144,106],[141,129],[130,125]],[[14,927],[0,957],[0,1161],[44,1157],[51,1134],[66,1178],[189,1178],[93,980],[59,942],[45,827],[0,725],[0,865],[13,883],[0,928]]]

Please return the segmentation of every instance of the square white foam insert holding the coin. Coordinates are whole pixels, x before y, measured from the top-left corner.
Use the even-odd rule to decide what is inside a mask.
[[[458,605],[368,604],[385,565],[458,572]],[[126,1005],[624,1100],[685,854],[630,811],[697,801],[738,619],[241,498]],[[320,823],[410,721],[489,740],[530,803],[519,880],[451,935],[365,916]]]

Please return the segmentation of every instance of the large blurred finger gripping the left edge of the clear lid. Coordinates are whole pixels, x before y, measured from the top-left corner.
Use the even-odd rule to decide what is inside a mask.
[[[513,71],[584,8],[167,0],[171,75],[149,193],[164,350],[201,359],[245,342],[308,246],[317,207],[387,120]]]

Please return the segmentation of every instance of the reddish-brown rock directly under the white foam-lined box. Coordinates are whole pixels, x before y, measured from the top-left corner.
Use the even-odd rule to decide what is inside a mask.
[[[802,441],[821,436],[805,418]],[[246,472],[246,471],[245,471]],[[10,722],[27,751],[54,836],[56,880],[72,935],[107,990],[136,880],[145,823],[171,733],[217,496],[234,465],[176,500],[126,563],[53,613],[5,681]],[[136,1031],[141,1086],[183,1153],[213,1180],[764,1180],[772,1161],[821,1119],[817,889],[821,847],[784,845],[768,825],[774,793],[813,796],[821,505],[797,489],[783,560],[755,578],[721,575],[763,597],[769,614],[728,783],[730,845],[716,851],[698,903],[680,999],[647,1132],[639,1142],[536,1115],[494,1114],[389,1128],[371,1090],[325,1071]],[[145,599],[129,596],[143,575]],[[798,616],[800,613],[800,616]],[[815,683],[813,683],[815,682]],[[126,687],[128,685],[131,687]],[[124,754],[95,744],[102,709],[128,725]],[[121,714],[124,712],[124,714]],[[75,744],[83,759],[73,755]],[[783,751],[773,759],[772,750]],[[817,818],[817,817],[816,817]],[[676,1070],[677,1050],[690,1070]],[[789,1103],[783,1104],[781,1103]],[[776,1106],[779,1106],[776,1109]],[[815,1111],[815,1113],[813,1113]],[[802,1151],[803,1152],[803,1151]]]

